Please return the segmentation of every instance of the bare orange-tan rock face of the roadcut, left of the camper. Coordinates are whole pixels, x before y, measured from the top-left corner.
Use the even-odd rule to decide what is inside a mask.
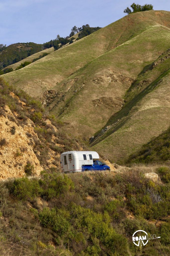
[[[0,116],[0,141],[4,139],[0,148],[0,179],[25,175],[24,168],[28,161],[33,164],[35,174],[39,175],[43,168],[33,151],[34,140],[27,136],[29,133],[37,137],[34,123],[28,119],[28,124],[22,127],[8,106],[4,110]]]

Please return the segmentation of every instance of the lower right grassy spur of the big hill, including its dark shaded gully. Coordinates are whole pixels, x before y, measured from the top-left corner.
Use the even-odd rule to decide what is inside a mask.
[[[126,103],[107,122],[108,129],[99,131],[93,148],[123,163],[129,154],[168,129],[169,116],[169,50],[147,66],[125,95]],[[168,58],[166,58],[168,57]]]

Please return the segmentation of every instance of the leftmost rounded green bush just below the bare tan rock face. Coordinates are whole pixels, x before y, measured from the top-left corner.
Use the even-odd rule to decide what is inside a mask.
[[[36,179],[28,179],[27,177],[15,179],[6,182],[10,194],[23,201],[33,200],[41,194],[41,188]]]

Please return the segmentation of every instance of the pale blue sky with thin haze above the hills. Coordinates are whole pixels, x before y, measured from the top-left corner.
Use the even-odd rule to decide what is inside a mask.
[[[169,0],[0,0],[0,44],[43,44],[57,34],[69,35],[74,25],[104,27],[125,16],[123,10],[133,2],[170,11]]]

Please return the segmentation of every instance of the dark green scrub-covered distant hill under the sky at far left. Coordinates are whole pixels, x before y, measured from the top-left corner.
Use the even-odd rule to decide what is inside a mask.
[[[42,50],[41,44],[17,43],[7,47],[3,47],[0,51],[0,69],[3,69],[11,64],[14,64],[28,56]]]

